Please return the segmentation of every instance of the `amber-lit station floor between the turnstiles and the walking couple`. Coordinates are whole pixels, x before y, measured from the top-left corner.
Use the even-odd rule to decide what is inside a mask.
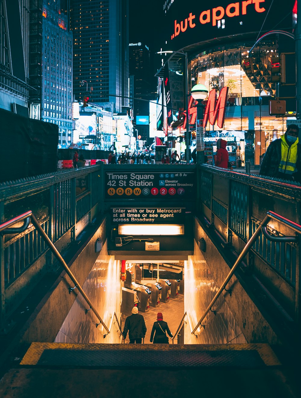
[[[151,329],[153,327],[153,322],[157,320],[157,313],[162,312],[163,320],[167,322],[168,327],[171,333],[174,335],[177,331],[177,328],[184,316],[184,295],[178,295],[177,298],[169,298],[169,302],[160,302],[160,305],[157,307],[151,307],[148,312],[139,312],[144,316],[147,332],[146,337],[144,339],[144,344],[150,343],[150,334]],[[122,330],[124,327],[124,322],[127,315],[122,314]],[[126,336],[126,343],[129,343],[128,335]],[[175,340],[177,343],[177,340]]]

